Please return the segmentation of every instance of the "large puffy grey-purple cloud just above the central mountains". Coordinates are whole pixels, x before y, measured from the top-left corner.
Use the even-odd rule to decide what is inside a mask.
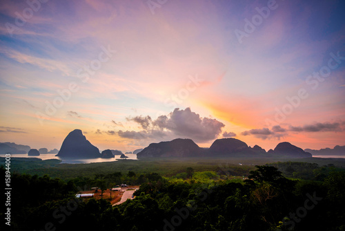
[[[150,116],[128,118],[141,125],[143,131],[117,131],[122,138],[154,139],[162,137],[190,138],[196,142],[215,140],[225,126],[222,122],[211,118],[201,118],[199,114],[186,109],[175,109],[168,115],[160,115],[156,120]]]

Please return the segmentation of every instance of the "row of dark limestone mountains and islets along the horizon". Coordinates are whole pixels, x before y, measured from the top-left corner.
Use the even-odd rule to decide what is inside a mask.
[[[26,154],[30,150],[28,145],[17,145],[13,142],[0,142],[0,154]],[[136,149],[132,152],[138,159],[158,157],[201,157],[201,156],[233,156],[233,157],[284,157],[284,158],[310,158],[317,155],[345,155],[345,146],[335,146],[333,149],[301,149],[289,142],[280,142],[275,149],[266,151],[255,145],[249,147],[245,142],[235,138],[217,139],[209,148],[199,147],[193,140],[177,138],[171,141],[151,143],[144,149]],[[53,149],[48,151],[41,148],[34,151],[34,155],[57,154],[61,158],[114,158],[116,155],[124,155],[122,151],[99,149],[92,145],[83,136],[80,129],[68,133],[63,140],[60,151]],[[126,152],[130,154],[130,152]],[[30,156],[32,151],[30,151]]]

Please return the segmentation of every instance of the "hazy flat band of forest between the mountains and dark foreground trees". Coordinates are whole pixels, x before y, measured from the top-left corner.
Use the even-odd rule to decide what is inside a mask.
[[[185,172],[187,167],[193,167],[195,172],[214,171],[226,172],[233,176],[248,176],[249,172],[255,169],[255,165],[266,165],[272,163],[278,167],[279,171],[285,171],[284,164],[278,163],[297,163],[301,159],[296,158],[157,158],[155,160],[120,160],[106,163],[88,164],[61,164],[61,160],[41,160],[39,158],[11,158],[12,171],[21,174],[31,174],[44,176],[48,174],[52,178],[61,178],[69,181],[76,177],[93,178],[95,174],[112,174],[121,172],[126,174],[128,171],[136,174],[147,174],[156,172],[161,176],[175,176]],[[345,158],[304,158],[303,163],[317,164],[318,167],[335,165],[335,167],[345,168]],[[241,164],[241,165],[239,165]],[[5,165],[5,158],[0,157],[0,165]],[[296,166],[299,173],[300,167]],[[310,172],[308,168],[306,171]],[[303,173],[302,173],[303,174]],[[287,177],[293,175],[286,174]],[[298,176],[299,178],[299,176]]]

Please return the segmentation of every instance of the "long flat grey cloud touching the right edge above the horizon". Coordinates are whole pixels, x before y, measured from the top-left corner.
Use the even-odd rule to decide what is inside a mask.
[[[306,124],[302,127],[294,127],[289,126],[289,131],[297,131],[297,132],[319,132],[319,131],[342,131],[342,124],[344,122],[317,122],[315,124]]]

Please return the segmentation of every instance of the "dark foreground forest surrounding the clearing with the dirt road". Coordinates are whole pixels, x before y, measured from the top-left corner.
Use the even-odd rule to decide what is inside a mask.
[[[164,162],[166,169],[157,172],[148,172],[156,167],[155,162],[139,167],[136,161],[118,163],[121,171],[113,167],[112,172],[81,171],[79,175],[73,170],[74,178],[61,174],[63,179],[16,172],[11,177],[11,228],[345,230],[342,166],[306,162],[214,165],[207,161],[187,166],[188,162]],[[130,167],[130,163],[135,165]],[[80,170],[90,165],[94,167],[72,166]],[[70,167],[62,167],[66,166]],[[4,176],[6,170],[1,167],[0,171]],[[119,183],[140,184],[136,198],[115,207],[103,199],[75,198],[81,190]],[[1,197],[6,200],[4,194]]]

